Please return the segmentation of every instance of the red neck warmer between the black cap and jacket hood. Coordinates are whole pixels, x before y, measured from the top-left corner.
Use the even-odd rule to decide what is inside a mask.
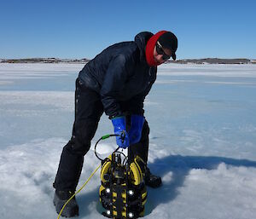
[[[154,61],[154,46],[157,40],[161,35],[163,35],[166,31],[161,31],[155,33],[152,37],[148,39],[148,43],[146,45],[146,60],[149,66],[158,66],[157,62]]]

